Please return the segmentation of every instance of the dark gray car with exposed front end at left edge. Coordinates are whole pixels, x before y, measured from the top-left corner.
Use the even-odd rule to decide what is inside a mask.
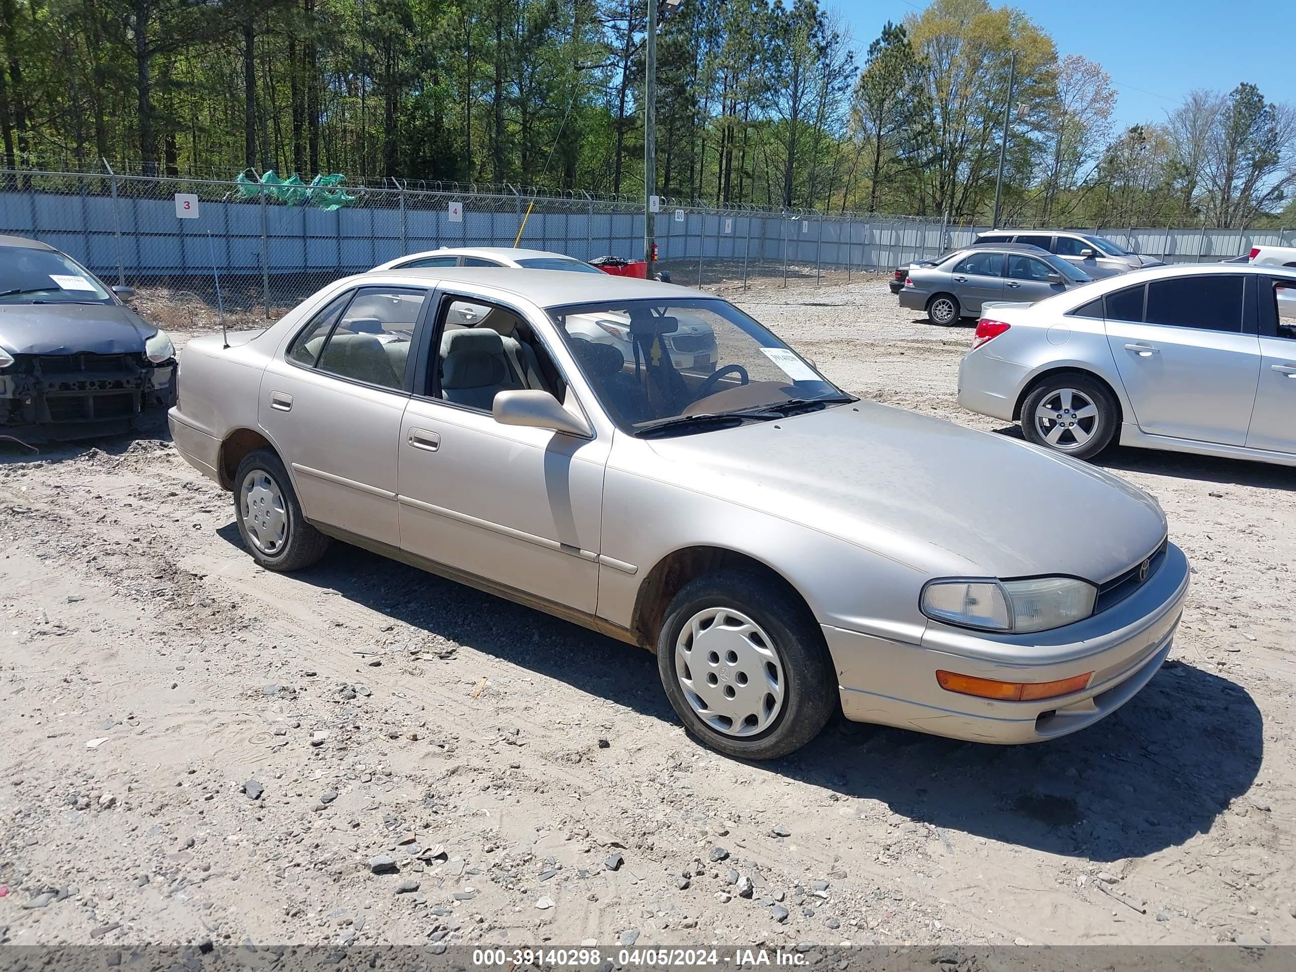
[[[175,349],[86,267],[0,236],[0,439],[29,443],[132,428],[175,400]]]

